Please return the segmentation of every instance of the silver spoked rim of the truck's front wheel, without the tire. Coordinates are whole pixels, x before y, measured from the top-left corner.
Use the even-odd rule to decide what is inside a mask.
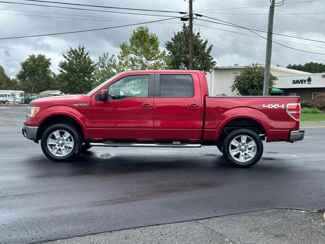
[[[71,154],[75,143],[69,132],[56,130],[47,137],[46,145],[49,152],[55,157],[65,157]]]

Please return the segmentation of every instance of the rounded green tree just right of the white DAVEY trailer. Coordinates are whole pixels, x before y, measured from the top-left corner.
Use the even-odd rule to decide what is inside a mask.
[[[17,79],[25,93],[39,93],[47,90],[53,84],[53,73],[50,69],[51,59],[43,54],[29,55],[21,62]]]

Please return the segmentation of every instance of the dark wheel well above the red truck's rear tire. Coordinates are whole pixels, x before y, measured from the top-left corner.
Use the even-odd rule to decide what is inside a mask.
[[[256,120],[252,118],[235,118],[230,120],[227,124],[223,126],[221,129],[218,141],[223,141],[224,138],[232,131],[237,129],[248,129],[254,131],[257,135],[259,135],[262,139],[266,136],[266,131],[264,127],[259,124]]]

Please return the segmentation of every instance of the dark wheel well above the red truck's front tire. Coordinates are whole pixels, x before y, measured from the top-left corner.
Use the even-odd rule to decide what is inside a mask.
[[[75,120],[74,118],[68,116],[68,115],[53,115],[50,117],[47,117],[46,119],[44,119],[41,123],[41,125],[39,126],[39,129],[37,130],[37,140],[40,140],[44,131],[49,128],[52,125],[58,124],[58,123],[67,123],[70,124],[72,126],[74,126],[75,128],[77,128],[77,130],[79,131],[82,140],[84,141],[85,136],[83,134],[83,130],[80,126],[80,124],[77,122],[77,120]]]

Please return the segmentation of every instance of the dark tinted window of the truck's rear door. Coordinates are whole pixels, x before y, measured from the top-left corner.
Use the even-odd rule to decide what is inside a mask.
[[[194,96],[190,75],[160,75],[160,97],[191,98]]]

